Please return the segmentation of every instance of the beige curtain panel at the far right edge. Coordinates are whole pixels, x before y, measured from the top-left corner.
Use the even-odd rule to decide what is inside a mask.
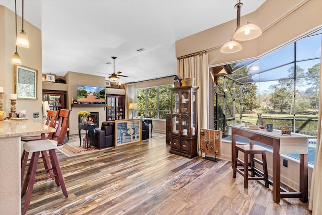
[[[321,55],[322,55],[322,49]],[[322,80],[322,57],[320,61],[320,82]],[[319,99],[318,99],[318,123],[317,136],[316,136],[316,150],[314,167],[312,172],[310,198],[308,202],[308,209],[312,210],[313,215],[322,214],[322,86],[319,86]]]

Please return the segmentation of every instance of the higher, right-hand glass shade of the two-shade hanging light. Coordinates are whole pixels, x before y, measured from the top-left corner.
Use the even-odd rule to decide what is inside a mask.
[[[262,30],[260,27],[254,24],[246,24],[238,28],[233,35],[234,40],[247,41],[255,39],[262,35]]]

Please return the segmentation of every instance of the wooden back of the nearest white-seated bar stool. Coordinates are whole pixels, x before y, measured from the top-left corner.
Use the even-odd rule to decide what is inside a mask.
[[[60,109],[59,111],[59,123],[56,129],[53,140],[57,141],[57,146],[62,146],[64,144],[64,138],[68,128],[70,110]]]

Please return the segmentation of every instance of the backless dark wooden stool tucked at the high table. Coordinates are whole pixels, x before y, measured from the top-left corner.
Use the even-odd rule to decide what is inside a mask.
[[[235,146],[236,157],[233,165],[232,177],[236,178],[236,172],[244,176],[244,188],[248,188],[249,180],[264,180],[265,187],[269,187],[268,172],[266,163],[266,150],[254,145],[238,145]],[[238,152],[244,153],[244,161],[238,158]],[[254,157],[255,154],[262,155],[262,161]],[[255,162],[263,166],[263,171],[255,167]],[[243,166],[243,168],[238,168]],[[251,176],[249,175],[251,171]]]

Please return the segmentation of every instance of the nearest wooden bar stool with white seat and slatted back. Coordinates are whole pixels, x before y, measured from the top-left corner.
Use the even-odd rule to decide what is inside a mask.
[[[22,197],[27,192],[23,214],[25,214],[28,210],[30,200],[31,200],[31,195],[32,195],[32,189],[34,187],[35,181],[45,180],[45,179],[54,177],[57,186],[61,186],[61,190],[63,194],[65,195],[66,198],[68,197],[66,186],[61,174],[61,170],[60,170],[60,166],[59,166],[59,162],[58,162],[58,158],[55,150],[57,149],[57,146],[61,146],[63,144],[63,140],[67,132],[69,114],[70,114],[70,110],[61,109],[59,111],[59,123],[58,123],[57,130],[52,139],[40,139],[40,140],[28,141],[28,142],[25,142],[25,144],[23,145],[23,148],[25,151],[25,157],[24,157],[23,163],[25,162],[27,163],[28,155],[29,153],[32,153],[30,165],[29,165],[27,175],[23,183],[22,192],[21,192]],[[45,171],[48,172],[52,170],[53,175],[49,175],[36,180],[36,173],[39,173],[37,172],[39,155],[42,152],[47,153],[47,151],[49,152],[50,162],[52,167],[51,169],[45,169],[39,172],[45,172]]]

